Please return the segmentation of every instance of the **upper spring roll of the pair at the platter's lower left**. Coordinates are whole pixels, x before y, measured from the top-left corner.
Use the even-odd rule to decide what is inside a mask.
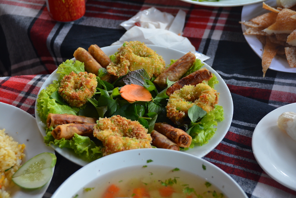
[[[85,117],[82,115],[49,113],[47,116],[46,124],[48,128],[55,128],[60,124],[96,123],[96,121],[96,118]]]

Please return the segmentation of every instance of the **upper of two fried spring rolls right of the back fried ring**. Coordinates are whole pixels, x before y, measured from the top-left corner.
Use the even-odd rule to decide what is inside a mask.
[[[171,81],[179,80],[187,70],[192,66],[196,57],[193,53],[188,52],[171,66],[168,67],[162,74],[160,74],[153,82],[156,83],[160,88],[165,88],[167,86],[167,77]]]

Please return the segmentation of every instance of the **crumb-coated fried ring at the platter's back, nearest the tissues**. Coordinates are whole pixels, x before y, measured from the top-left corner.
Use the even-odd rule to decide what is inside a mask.
[[[125,42],[116,54],[115,61],[107,66],[109,74],[120,77],[128,71],[145,69],[151,78],[165,71],[165,61],[154,50],[139,41]]]

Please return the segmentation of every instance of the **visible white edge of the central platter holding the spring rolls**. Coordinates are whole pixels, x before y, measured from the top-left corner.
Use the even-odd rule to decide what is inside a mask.
[[[101,49],[108,56],[110,56],[110,55],[114,54],[116,51],[118,51],[118,48],[120,46],[121,45],[113,45],[113,46],[108,46],[108,47],[102,47]],[[170,49],[167,47],[161,47],[161,46],[156,46],[156,45],[147,45],[147,46],[150,47],[151,49],[155,50],[158,54],[162,55],[166,64],[169,64],[171,59],[178,59],[185,54],[184,52]],[[190,154],[195,155],[197,157],[205,156],[207,153],[212,151],[221,142],[221,140],[226,135],[226,133],[230,127],[230,124],[232,121],[232,116],[233,116],[233,101],[232,101],[232,97],[231,97],[230,91],[229,91],[226,83],[224,82],[224,80],[221,78],[221,76],[214,69],[212,69],[207,64],[205,64],[205,67],[209,71],[211,71],[213,74],[215,74],[217,79],[219,80],[219,83],[215,85],[215,89],[218,92],[220,92],[219,105],[221,105],[224,109],[224,118],[225,119],[222,122],[218,123],[216,133],[214,134],[212,139],[207,144],[202,145],[202,146],[195,146],[193,149],[189,149],[189,150],[185,151],[186,153],[190,153]],[[42,85],[40,91],[42,89],[46,88],[49,84],[51,84],[53,80],[57,80],[57,78],[58,78],[58,75],[56,74],[56,71],[54,71],[49,76],[49,78],[46,79],[46,81]],[[39,126],[39,129],[40,129],[42,135],[45,136],[45,129],[44,129],[45,124],[41,122],[41,119],[39,117],[39,113],[36,112],[36,110],[37,110],[37,108],[35,105],[36,121],[37,121],[37,124]],[[83,161],[80,158],[74,156],[73,153],[69,150],[66,150],[64,148],[61,149],[57,146],[55,146],[54,149],[58,153],[60,153],[62,156],[69,159],[70,161],[73,161],[76,164],[79,164],[81,166],[88,164],[88,162]]]

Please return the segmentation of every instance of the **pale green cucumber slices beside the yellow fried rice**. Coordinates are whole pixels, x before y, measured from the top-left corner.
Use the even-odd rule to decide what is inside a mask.
[[[56,162],[57,157],[53,153],[40,153],[22,165],[12,175],[12,181],[22,188],[40,188],[52,178],[52,167]]]

